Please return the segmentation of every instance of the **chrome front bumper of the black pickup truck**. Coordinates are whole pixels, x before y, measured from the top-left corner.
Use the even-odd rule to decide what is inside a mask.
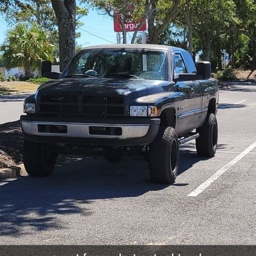
[[[36,136],[49,137],[76,137],[88,139],[132,139],[140,138],[147,135],[149,131],[149,124],[85,124],[76,122],[40,122],[40,121],[21,121],[22,130],[26,134]],[[54,125],[65,126],[66,133],[58,132],[40,132],[38,125]],[[95,135],[90,134],[90,127],[116,127],[121,128],[120,135]]]

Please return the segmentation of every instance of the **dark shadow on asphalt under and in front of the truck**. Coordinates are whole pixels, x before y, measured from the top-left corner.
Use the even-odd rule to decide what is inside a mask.
[[[182,152],[179,174],[206,159]],[[170,192],[176,193],[175,188],[186,185],[170,185]],[[141,159],[116,165],[102,158],[58,163],[51,176],[23,176],[0,186],[0,237],[66,229],[67,218],[62,220],[61,216],[80,215],[86,221],[95,214],[90,205],[97,199],[134,198],[168,186],[152,183],[148,164]]]

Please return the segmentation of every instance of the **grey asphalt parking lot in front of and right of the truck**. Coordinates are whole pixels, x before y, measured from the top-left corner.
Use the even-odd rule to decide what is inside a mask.
[[[143,160],[89,158],[2,182],[0,244],[255,245],[255,99],[255,83],[220,91],[218,152],[208,159],[194,142],[182,146],[174,185],[152,184]]]

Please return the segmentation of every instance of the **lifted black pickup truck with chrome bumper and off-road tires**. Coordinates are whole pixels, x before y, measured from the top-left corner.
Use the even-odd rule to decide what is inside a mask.
[[[41,72],[53,80],[27,97],[27,115],[21,116],[23,161],[31,176],[51,174],[58,154],[114,162],[142,152],[151,179],[173,183],[180,144],[195,139],[198,155],[216,152],[218,85],[210,63],[195,67],[181,48],[87,47],[62,73],[51,72],[49,61]]]

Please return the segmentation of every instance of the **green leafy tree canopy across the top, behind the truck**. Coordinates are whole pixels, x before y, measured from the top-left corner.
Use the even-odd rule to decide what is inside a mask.
[[[221,50],[227,50],[230,65],[256,67],[255,0],[2,0],[0,12],[11,25],[17,22],[38,26],[51,34],[51,44],[60,45],[61,71],[75,54],[77,26],[86,8],[117,17],[127,43],[127,21],[139,26],[131,43],[141,42],[137,32],[147,21],[147,43],[186,48],[195,58],[210,60],[221,69]],[[57,35],[57,36],[56,36]],[[57,47],[56,47],[57,48]],[[59,52],[55,52],[58,55]]]

